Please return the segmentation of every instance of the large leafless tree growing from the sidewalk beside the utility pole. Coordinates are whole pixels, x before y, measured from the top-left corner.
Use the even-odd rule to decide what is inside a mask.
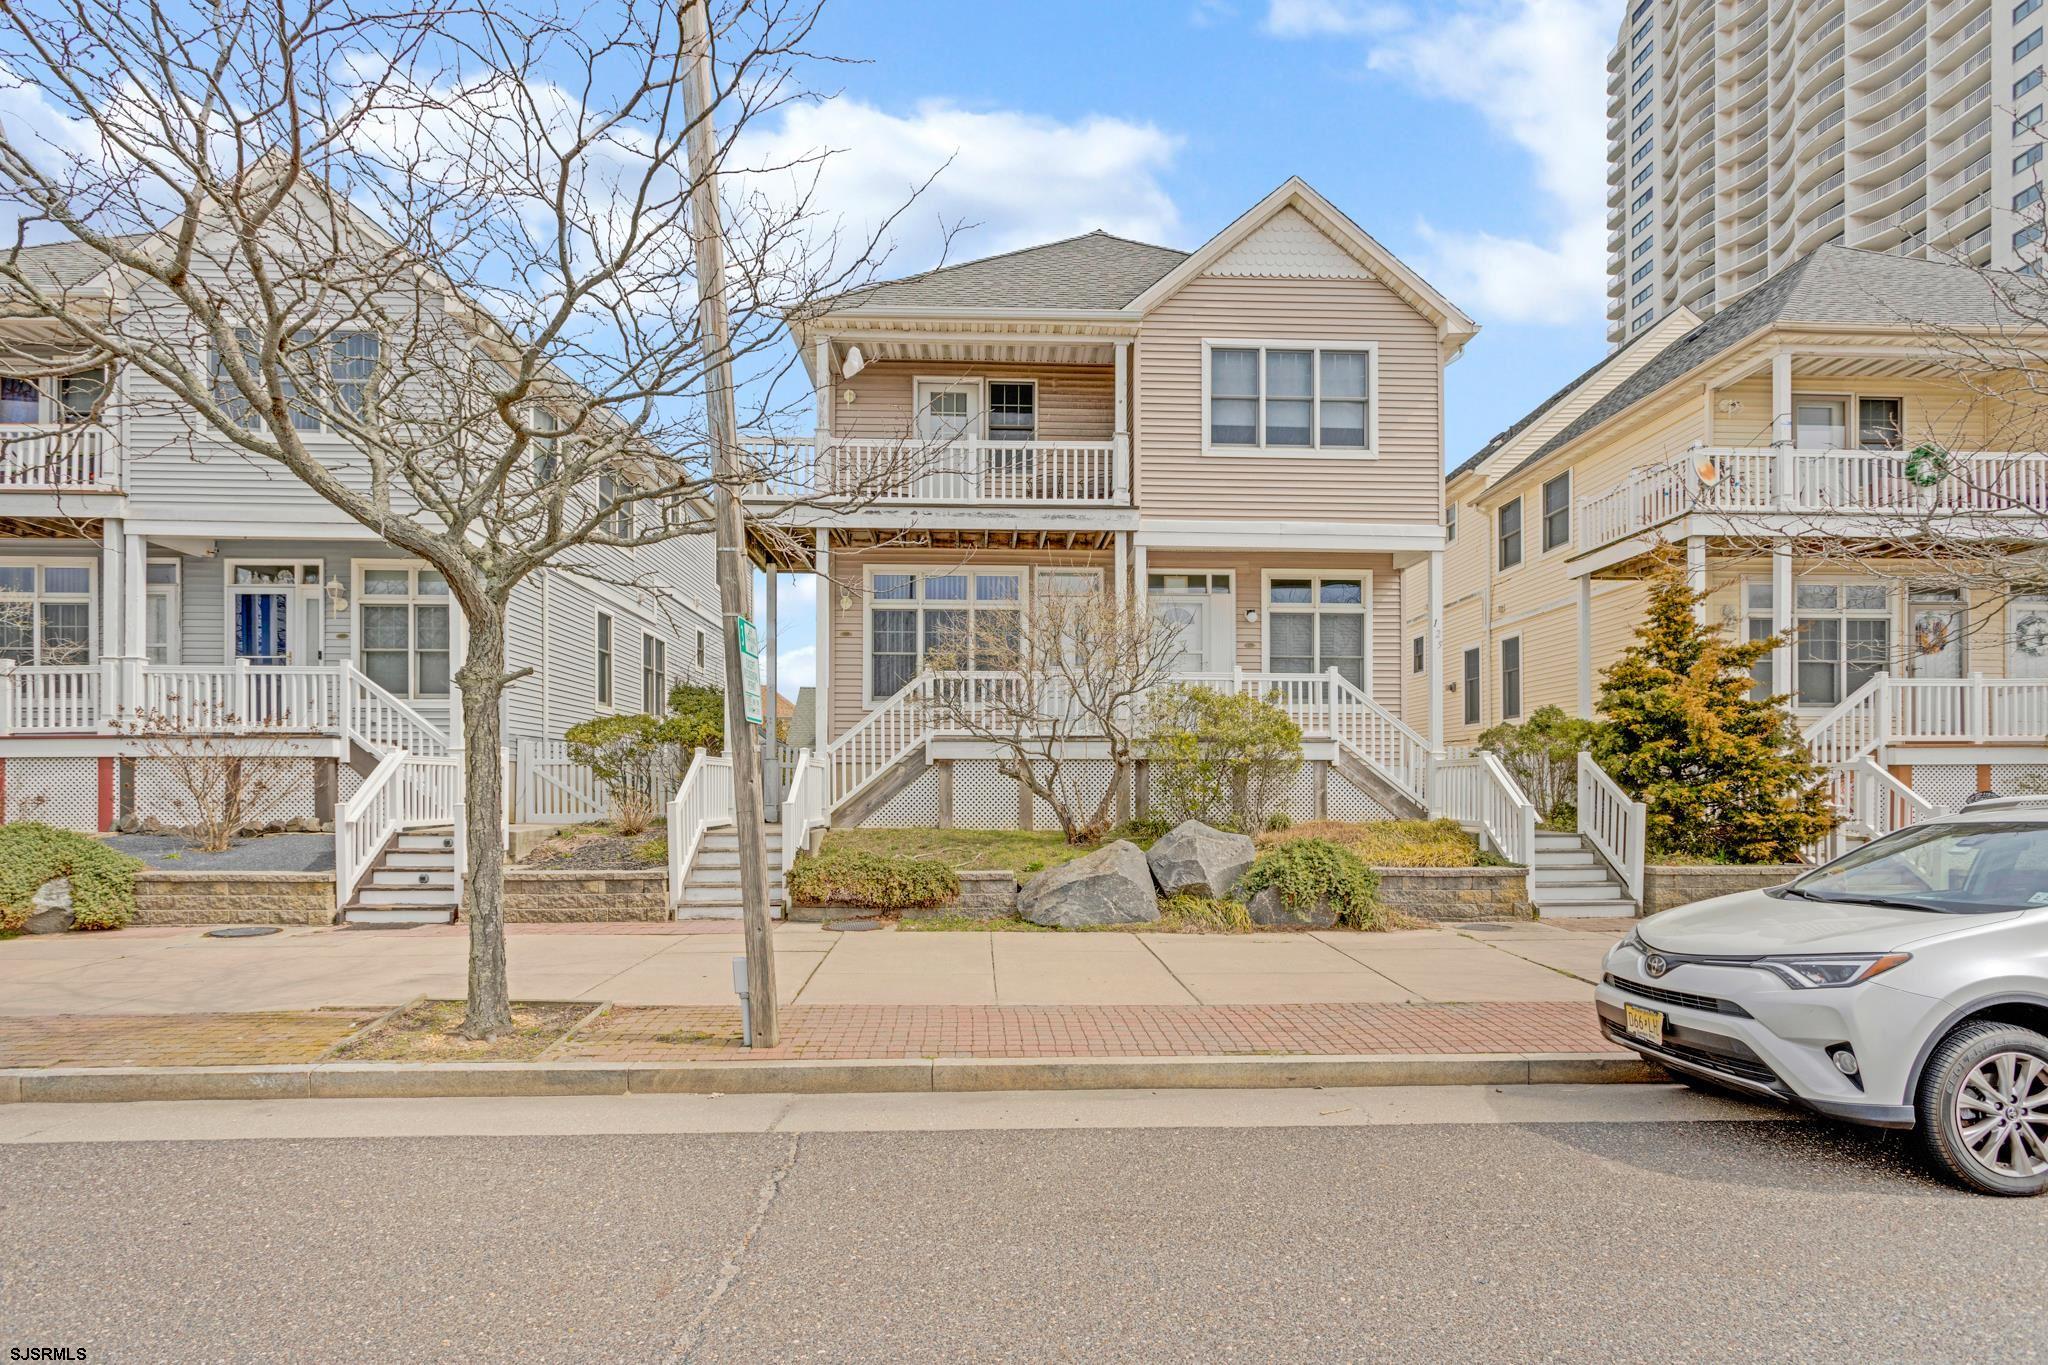
[[[0,287],[59,342],[0,362],[106,366],[131,411],[154,403],[219,458],[287,471],[438,569],[463,612],[471,1038],[510,1023],[514,589],[547,567],[657,591],[635,551],[709,530],[707,377],[731,368],[741,426],[786,426],[809,385],[776,383],[782,319],[870,278],[889,231],[842,239],[813,203],[815,158],[745,153],[748,129],[809,98],[805,72],[829,61],[805,47],[817,0],[709,12],[696,117],[717,143],[696,172],[725,194],[731,317],[713,354],[684,113],[686,16],[707,4],[217,0],[195,25],[160,0],[0,0],[0,78],[72,121],[0,127],[20,221]],[[39,233],[104,270],[39,266],[20,250]],[[772,450],[750,446],[748,483],[801,497]]]

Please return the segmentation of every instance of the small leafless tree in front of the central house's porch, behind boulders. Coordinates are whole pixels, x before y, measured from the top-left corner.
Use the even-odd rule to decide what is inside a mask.
[[[979,608],[973,628],[942,634],[913,686],[936,726],[995,745],[997,769],[1053,808],[1067,843],[1087,843],[1114,823],[1147,694],[1171,679],[1178,655],[1174,630],[1143,604],[1044,581],[1020,610]],[[1077,765],[1102,759],[1110,782],[1090,794]]]

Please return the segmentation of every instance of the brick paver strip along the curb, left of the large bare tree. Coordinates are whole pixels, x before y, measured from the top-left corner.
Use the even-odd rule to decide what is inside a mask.
[[[315,1062],[383,1009],[246,1015],[0,1017],[0,1066],[287,1066]]]

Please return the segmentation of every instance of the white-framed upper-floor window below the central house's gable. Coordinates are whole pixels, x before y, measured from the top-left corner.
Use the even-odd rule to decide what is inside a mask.
[[[1208,444],[1368,450],[1372,352],[1212,346]]]

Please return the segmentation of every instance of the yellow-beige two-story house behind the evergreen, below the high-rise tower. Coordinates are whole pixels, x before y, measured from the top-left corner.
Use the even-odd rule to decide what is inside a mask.
[[[1829,246],[1577,377],[1446,479],[1446,743],[1593,714],[1679,555],[1706,620],[1784,641],[1757,694],[1790,698],[1851,821],[2048,776],[2048,585],[1966,569],[2048,540],[2030,389],[1993,397],[2023,325],[1974,270]],[[1411,651],[1434,616],[1411,571]]]

